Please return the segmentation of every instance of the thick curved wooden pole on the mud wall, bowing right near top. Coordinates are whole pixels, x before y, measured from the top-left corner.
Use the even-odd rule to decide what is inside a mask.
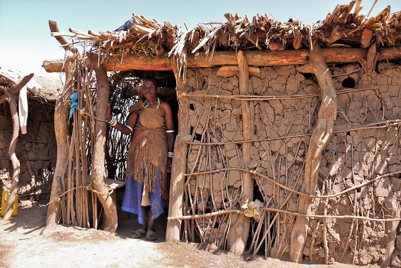
[[[324,57],[317,43],[311,45],[310,64],[305,66],[316,75],[322,91],[321,106],[317,115],[317,123],[310,138],[308,152],[305,157],[305,175],[301,192],[313,195],[317,187],[318,170],[321,154],[329,142],[337,115],[337,96]],[[312,198],[300,196],[298,213],[310,214]],[[302,260],[302,251],[306,242],[309,218],[296,217],[290,239],[290,258],[292,261]]]

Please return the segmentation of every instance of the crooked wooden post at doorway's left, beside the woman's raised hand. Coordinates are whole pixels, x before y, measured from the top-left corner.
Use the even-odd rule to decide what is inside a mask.
[[[94,68],[96,73],[96,92],[97,102],[95,109],[95,117],[106,120],[106,109],[109,98],[109,80],[107,73],[100,65]],[[93,141],[92,151],[92,183],[96,191],[100,193],[107,193],[107,186],[104,182],[104,158],[106,151],[106,123],[100,120],[95,120],[94,129],[96,139]],[[112,196],[108,194],[97,194],[100,203],[103,205],[105,222],[104,230],[115,232],[117,230],[117,207]]]

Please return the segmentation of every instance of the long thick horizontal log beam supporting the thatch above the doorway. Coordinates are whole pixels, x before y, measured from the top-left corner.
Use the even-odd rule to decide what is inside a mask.
[[[360,62],[366,57],[367,49],[362,48],[325,48],[323,57],[327,63]],[[283,51],[244,51],[249,66],[284,66],[308,63],[309,50],[283,50]],[[378,60],[396,60],[401,58],[400,48],[385,48],[378,56]],[[216,51],[212,60],[206,55],[190,55],[187,57],[187,68],[209,68],[221,65],[238,65],[234,51]],[[61,72],[62,60],[44,61],[42,65],[47,72]],[[163,56],[153,57],[150,61],[140,59],[134,55],[122,59],[109,57],[104,61],[106,71],[169,71],[170,60]]]

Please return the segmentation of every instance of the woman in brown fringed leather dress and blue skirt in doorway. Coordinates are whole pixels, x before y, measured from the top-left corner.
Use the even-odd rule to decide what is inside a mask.
[[[128,115],[126,124],[117,122],[107,109],[109,124],[130,135],[126,186],[122,210],[138,215],[142,228],[133,231],[131,238],[145,235],[156,240],[154,219],[163,214],[168,198],[167,173],[171,172],[174,144],[174,124],[170,105],[157,97],[160,88],[156,79],[147,77],[140,89],[141,99]]]

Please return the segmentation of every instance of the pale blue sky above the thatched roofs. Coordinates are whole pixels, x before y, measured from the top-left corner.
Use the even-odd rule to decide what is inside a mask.
[[[360,14],[367,14],[374,0],[363,0]],[[280,21],[299,19],[305,24],[323,20],[337,4],[347,0],[264,0],[264,1],[104,1],[104,0],[0,0],[0,67],[17,68],[24,73],[47,75],[41,67],[45,59],[64,57],[64,50],[50,36],[48,21],[56,21],[61,32],[69,28],[115,30],[132,18],[132,13],[159,22],[169,21],[185,29],[207,21],[226,22],[227,12],[247,15],[267,14]],[[401,0],[378,0],[371,16],[387,5],[391,12],[401,10]],[[55,77],[53,75],[53,77]]]

